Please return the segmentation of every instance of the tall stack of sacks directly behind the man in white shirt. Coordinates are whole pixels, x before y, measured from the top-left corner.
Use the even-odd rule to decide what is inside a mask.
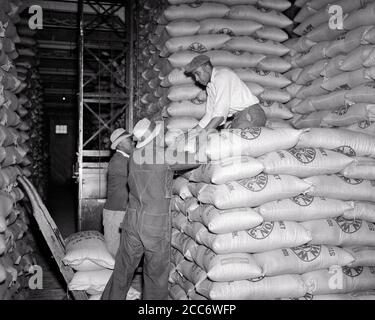
[[[208,55],[214,66],[233,69],[259,97],[268,118],[293,116],[283,106],[290,100],[283,88],[291,82],[282,75],[291,68],[283,58],[289,49],[282,44],[288,39],[282,29],[292,24],[282,11],[290,5],[286,0],[169,1],[152,45],[142,52],[153,56],[142,74],[152,92],[141,99],[169,118],[168,145],[205,113],[204,88],[184,74],[186,64],[199,54]]]

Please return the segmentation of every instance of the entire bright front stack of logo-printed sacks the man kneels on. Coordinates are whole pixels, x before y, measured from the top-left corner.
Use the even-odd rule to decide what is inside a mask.
[[[171,298],[374,299],[375,183],[334,149],[375,140],[346,132],[211,134],[173,186]]]

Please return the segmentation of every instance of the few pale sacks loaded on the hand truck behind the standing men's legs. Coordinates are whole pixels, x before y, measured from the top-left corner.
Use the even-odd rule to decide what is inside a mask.
[[[105,245],[104,236],[97,231],[79,232],[69,236],[65,245],[63,263],[76,271],[69,283],[69,290],[86,291],[89,300],[100,300],[115,265],[115,259]],[[127,300],[140,299],[140,286],[137,283],[138,290],[130,288]]]

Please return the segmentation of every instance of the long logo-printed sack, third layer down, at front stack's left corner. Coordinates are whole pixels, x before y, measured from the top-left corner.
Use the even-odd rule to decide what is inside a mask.
[[[256,207],[266,202],[297,196],[311,184],[287,175],[267,175],[228,182],[224,185],[199,184],[198,200],[218,209]]]

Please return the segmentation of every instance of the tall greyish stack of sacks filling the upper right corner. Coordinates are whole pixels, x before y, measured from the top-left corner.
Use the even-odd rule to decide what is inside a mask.
[[[295,21],[298,37],[288,40],[293,69],[286,75],[297,128],[345,127],[375,134],[375,3],[372,0],[316,1],[301,9]],[[329,3],[329,5],[327,5]],[[346,15],[343,30],[329,26],[331,5]]]

